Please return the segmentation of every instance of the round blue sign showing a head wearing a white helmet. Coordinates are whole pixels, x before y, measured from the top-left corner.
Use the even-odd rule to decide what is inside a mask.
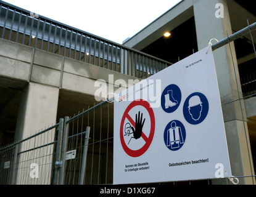
[[[183,115],[189,124],[200,124],[209,112],[209,102],[204,94],[196,92],[189,95],[183,106]]]

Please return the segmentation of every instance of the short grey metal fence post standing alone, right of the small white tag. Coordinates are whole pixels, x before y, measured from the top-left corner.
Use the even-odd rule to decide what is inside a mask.
[[[88,152],[89,134],[90,134],[90,127],[88,126],[88,127],[86,127],[85,145],[83,147],[83,158],[82,158],[82,166],[81,166],[81,172],[80,172],[79,185],[83,185],[84,184],[84,179],[85,179],[86,158],[87,158],[87,152]]]

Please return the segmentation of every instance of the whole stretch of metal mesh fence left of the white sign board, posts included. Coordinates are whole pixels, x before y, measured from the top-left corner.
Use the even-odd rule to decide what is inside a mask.
[[[0,184],[111,184],[113,104],[89,108],[0,149]]]

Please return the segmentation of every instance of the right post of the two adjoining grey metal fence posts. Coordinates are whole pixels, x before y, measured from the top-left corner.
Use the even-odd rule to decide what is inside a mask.
[[[62,150],[61,150],[61,159],[62,164],[60,166],[60,176],[59,176],[59,185],[64,185],[65,178],[65,161],[66,161],[66,151],[67,151],[67,137],[68,137],[68,122],[69,117],[65,116],[64,119],[64,129],[63,129],[63,139],[62,139]]]

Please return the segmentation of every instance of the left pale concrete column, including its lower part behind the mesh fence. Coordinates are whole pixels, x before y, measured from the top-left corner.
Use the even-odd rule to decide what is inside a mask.
[[[22,92],[15,141],[25,139],[56,124],[58,100],[59,88],[30,82]],[[19,151],[30,150],[54,142],[54,135],[55,130],[53,129],[46,134],[27,140],[19,145]],[[53,149],[53,145],[48,145],[20,154],[16,184],[51,183]]]

